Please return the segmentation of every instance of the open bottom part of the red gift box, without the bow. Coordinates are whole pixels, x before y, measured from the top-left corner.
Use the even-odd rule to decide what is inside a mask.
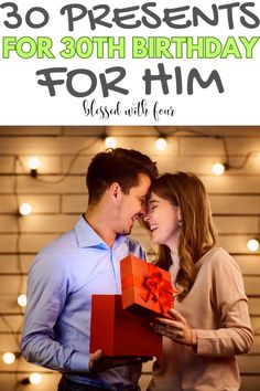
[[[105,356],[160,356],[162,337],[122,308],[121,295],[93,295],[90,352],[97,349]]]

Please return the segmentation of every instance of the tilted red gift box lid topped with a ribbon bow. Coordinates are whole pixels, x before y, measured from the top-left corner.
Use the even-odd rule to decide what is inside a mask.
[[[124,309],[150,319],[170,317],[167,311],[173,307],[175,290],[169,272],[134,255],[123,258],[120,268]]]

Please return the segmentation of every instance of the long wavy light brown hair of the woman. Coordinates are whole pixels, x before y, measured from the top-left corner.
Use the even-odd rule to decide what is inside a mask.
[[[180,271],[176,283],[184,288],[178,295],[182,300],[194,284],[194,264],[217,242],[209,200],[201,179],[189,172],[165,173],[152,182],[151,191],[180,207]],[[171,264],[170,249],[161,244],[156,265],[169,270]]]

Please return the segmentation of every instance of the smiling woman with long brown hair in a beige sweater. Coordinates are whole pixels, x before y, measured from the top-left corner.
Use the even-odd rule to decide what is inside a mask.
[[[156,265],[178,290],[173,319],[151,325],[164,338],[148,390],[239,390],[235,355],[249,350],[252,329],[240,270],[217,246],[205,187],[192,173],[166,173],[152,183],[148,205]]]

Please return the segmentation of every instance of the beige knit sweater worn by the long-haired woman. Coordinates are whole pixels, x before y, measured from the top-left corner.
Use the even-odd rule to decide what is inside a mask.
[[[241,272],[221,247],[195,267],[195,283],[175,308],[197,331],[196,351],[165,337],[149,391],[239,390],[235,355],[247,352],[253,341]]]

